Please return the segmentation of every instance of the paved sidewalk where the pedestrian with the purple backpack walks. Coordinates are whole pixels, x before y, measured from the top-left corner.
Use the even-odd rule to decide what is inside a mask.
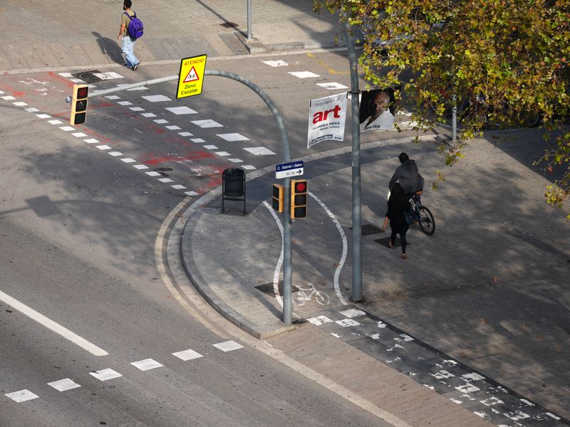
[[[123,65],[117,35],[121,1],[8,1],[0,9],[0,73],[83,65]],[[135,46],[142,64],[207,54],[346,46],[343,28],[309,0],[255,0],[247,40],[247,1],[133,1],[145,25]],[[22,25],[26,23],[26,25]]]

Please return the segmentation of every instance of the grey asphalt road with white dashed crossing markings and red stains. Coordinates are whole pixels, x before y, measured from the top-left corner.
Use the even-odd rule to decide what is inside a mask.
[[[321,77],[301,79],[261,62],[277,59]],[[346,85],[349,78],[333,72],[346,67],[343,53],[334,52],[209,65],[239,73],[274,98],[289,130],[292,157],[306,152],[309,100],[338,92],[315,83]],[[110,88],[171,75],[177,67],[141,67],[136,74],[110,68],[125,78],[95,84]],[[81,70],[69,70],[76,71]],[[73,77],[61,73],[0,79],[0,97],[15,98],[0,100],[0,425],[385,425],[247,344],[229,352],[214,347],[231,338],[193,318],[160,278],[157,233],[185,193],[202,194],[219,184],[222,170],[234,164],[228,159],[256,169],[281,161],[274,119],[259,97],[222,78],[204,81],[200,97],[180,101],[174,100],[174,83],[154,85],[116,94],[120,99],[90,100],[87,125],[68,131],[61,129],[69,108],[63,98]],[[153,95],[172,102],[142,98]],[[196,113],[179,115],[167,107]],[[51,117],[38,117],[42,114]],[[200,127],[192,120],[223,127]],[[73,135],[78,132],[85,136]],[[222,134],[248,139],[217,136]],[[7,303],[6,295],[34,310],[31,317]],[[39,315],[56,322],[60,332],[66,328],[85,339],[91,351],[108,354],[92,354],[76,338],[53,332]],[[172,354],[189,349],[202,357],[182,360]],[[153,368],[143,371],[133,365],[147,359],[162,366],[149,361]],[[100,375],[110,372],[105,369],[120,376],[101,381]],[[24,390],[38,397],[18,402],[32,397]]]

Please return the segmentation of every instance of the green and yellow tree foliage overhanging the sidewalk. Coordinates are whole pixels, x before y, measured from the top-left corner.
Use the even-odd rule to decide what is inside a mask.
[[[404,83],[420,127],[459,110],[460,138],[446,163],[490,122],[549,130],[570,117],[570,0],[314,0],[363,31],[359,63],[380,88]],[[399,95],[397,92],[396,95]],[[570,195],[570,133],[546,152],[562,168],[546,190],[561,206]],[[570,217],[570,216],[569,216]]]

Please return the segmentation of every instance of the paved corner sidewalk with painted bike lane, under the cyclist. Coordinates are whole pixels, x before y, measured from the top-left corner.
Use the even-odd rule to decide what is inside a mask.
[[[348,147],[304,158],[309,216],[293,226],[299,325],[284,327],[275,293],[281,220],[266,204],[272,168],[247,174],[246,216],[232,201],[222,214],[219,189],[185,212],[187,273],[234,324],[410,425],[568,426],[570,227],[544,205],[547,181],[529,167],[539,132],[509,139],[477,141],[440,191],[425,190],[437,228],[433,236],[410,229],[408,260],[375,228],[384,188],[404,150],[435,176],[437,144],[363,146],[362,304],[349,302]]]

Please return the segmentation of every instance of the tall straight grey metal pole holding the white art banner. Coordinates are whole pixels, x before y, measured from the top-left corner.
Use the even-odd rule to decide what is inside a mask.
[[[348,60],[351,65],[352,107],[352,290],[351,300],[362,298],[362,209],[361,209],[361,127],[358,108],[358,68],[348,19],[343,21]]]

